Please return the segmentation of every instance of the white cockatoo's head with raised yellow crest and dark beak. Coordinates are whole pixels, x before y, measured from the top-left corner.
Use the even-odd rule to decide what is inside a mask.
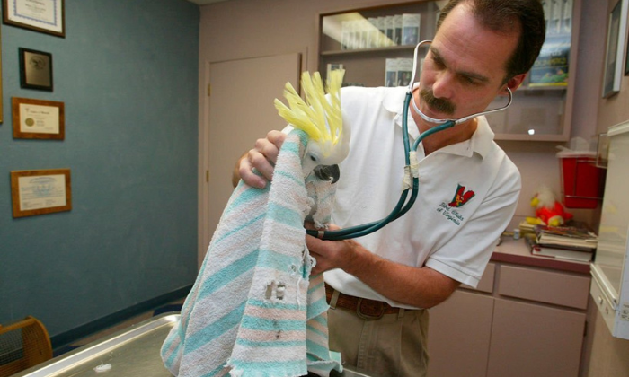
[[[306,101],[302,100],[293,85],[286,83],[284,97],[288,107],[275,100],[279,116],[292,127],[301,129],[309,136],[302,161],[304,178],[314,172],[321,180],[332,183],[339,179],[339,163],[350,151],[350,127],[343,126],[341,117],[341,83],[344,70],[334,70],[326,82],[328,95],[323,91],[321,75],[308,72],[301,76]]]

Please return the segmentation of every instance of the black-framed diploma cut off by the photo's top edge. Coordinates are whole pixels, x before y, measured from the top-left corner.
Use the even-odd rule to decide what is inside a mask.
[[[2,0],[4,23],[65,38],[64,0]]]

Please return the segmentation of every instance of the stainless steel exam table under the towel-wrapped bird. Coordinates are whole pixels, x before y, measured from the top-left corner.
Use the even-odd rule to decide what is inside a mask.
[[[178,319],[178,313],[156,316],[12,377],[172,377],[162,363],[160,348]],[[332,371],[332,376],[368,377],[347,369]]]

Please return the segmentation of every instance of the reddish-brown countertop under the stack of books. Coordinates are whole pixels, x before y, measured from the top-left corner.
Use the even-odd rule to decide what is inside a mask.
[[[493,251],[491,261],[544,267],[589,275],[589,263],[587,262],[533,255],[524,239],[514,240],[509,236],[502,236],[500,245],[496,246],[496,249]]]

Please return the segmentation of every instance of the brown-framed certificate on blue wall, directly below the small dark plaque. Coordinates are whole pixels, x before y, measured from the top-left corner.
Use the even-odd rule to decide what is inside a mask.
[[[13,97],[13,137],[16,139],[66,138],[64,102]]]

